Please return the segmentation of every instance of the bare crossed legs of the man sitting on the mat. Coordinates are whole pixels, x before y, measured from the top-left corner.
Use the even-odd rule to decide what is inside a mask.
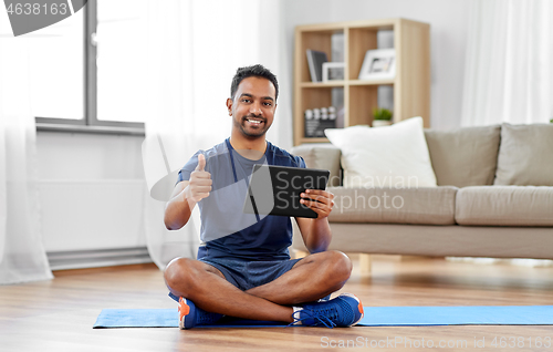
[[[206,311],[292,322],[293,309],[285,306],[314,301],[338,290],[351,270],[344,253],[321,252],[300,260],[279,279],[243,292],[212,266],[181,258],[167,266],[165,280],[175,296],[185,297]]]

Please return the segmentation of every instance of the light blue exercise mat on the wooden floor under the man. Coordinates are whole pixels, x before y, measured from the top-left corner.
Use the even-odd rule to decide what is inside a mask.
[[[361,327],[553,325],[553,306],[365,307]],[[177,309],[104,309],[93,328],[176,328]],[[274,328],[285,323],[225,318],[198,328]]]

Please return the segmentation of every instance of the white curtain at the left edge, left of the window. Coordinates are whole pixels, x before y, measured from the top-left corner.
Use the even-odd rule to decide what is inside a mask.
[[[11,33],[1,21],[0,33]],[[6,27],[6,24],[8,27]],[[42,244],[34,117],[29,86],[31,38],[0,35],[0,283],[51,279]]]

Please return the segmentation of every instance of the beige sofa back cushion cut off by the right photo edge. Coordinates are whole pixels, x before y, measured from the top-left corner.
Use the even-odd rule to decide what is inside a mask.
[[[494,184],[553,186],[553,124],[501,126]]]

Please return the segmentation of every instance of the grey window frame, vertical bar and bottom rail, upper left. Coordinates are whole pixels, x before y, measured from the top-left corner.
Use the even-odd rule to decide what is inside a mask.
[[[145,135],[142,122],[101,121],[97,118],[97,70],[96,43],[97,29],[96,1],[87,1],[84,11],[84,118],[56,118],[36,116],[36,131]]]

